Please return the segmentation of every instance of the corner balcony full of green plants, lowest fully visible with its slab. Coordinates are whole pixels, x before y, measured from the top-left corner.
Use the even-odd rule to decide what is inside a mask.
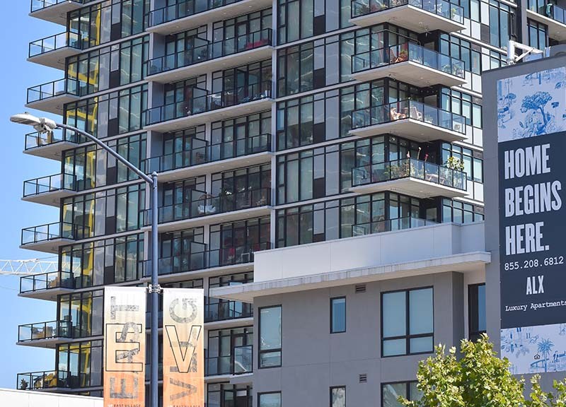
[[[417,198],[466,196],[466,172],[415,158],[352,169],[352,188],[359,194],[395,191]]]

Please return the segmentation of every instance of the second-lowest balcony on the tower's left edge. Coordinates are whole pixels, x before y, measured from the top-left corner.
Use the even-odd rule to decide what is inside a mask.
[[[72,338],[72,326],[67,321],[38,322],[18,327],[18,345],[55,348],[57,343]]]

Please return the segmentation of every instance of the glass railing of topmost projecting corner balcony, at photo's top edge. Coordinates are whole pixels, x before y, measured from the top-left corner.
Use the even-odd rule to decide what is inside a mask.
[[[352,1],[352,18],[400,6],[422,8],[424,11],[448,18],[456,23],[464,23],[463,7],[444,0],[354,0]]]

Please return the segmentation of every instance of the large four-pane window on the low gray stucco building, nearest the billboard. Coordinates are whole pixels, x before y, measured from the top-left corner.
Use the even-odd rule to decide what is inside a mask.
[[[429,353],[434,343],[432,288],[381,294],[381,355]]]

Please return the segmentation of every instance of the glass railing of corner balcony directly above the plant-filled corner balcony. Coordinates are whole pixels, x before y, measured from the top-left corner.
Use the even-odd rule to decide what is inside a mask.
[[[466,134],[466,118],[425,105],[416,100],[400,100],[387,105],[366,107],[352,112],[352,129],[412,119],[443,129]]]

